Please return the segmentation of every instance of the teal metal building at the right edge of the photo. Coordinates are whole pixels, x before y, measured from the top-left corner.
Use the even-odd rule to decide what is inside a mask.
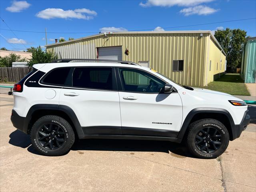
[[[245,83],[256,82],[256,37],[246,39],[242,53],[241,76]]]

